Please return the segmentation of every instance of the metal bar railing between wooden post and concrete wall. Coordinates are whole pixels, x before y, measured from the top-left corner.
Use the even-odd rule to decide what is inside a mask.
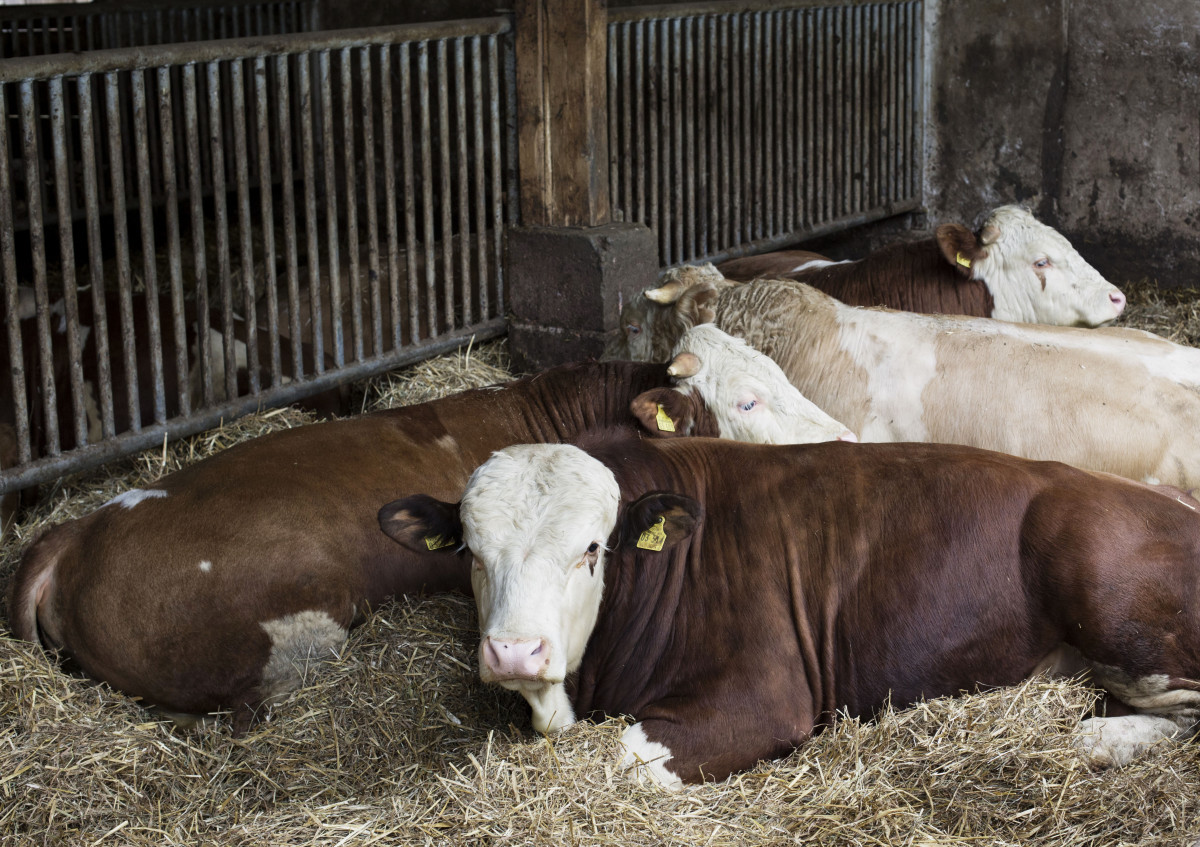
[[[610,12],[614,217],[664,265],[916,209],[922,0]]]

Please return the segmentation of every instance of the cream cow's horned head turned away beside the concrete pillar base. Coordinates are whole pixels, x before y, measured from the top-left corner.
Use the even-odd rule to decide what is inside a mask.
[[[622,310],[620,330],[608,340],[604,358],[665,361],[684,330],[713,322],[716,298],[736,284],[710,264],[668,268],[658,288]]]

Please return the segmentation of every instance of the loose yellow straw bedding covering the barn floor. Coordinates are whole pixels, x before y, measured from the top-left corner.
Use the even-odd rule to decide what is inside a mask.
[[[1127,287],[1122,323],[1200,344],[1200,293]],[[505,378],[503,342],[364,388],[366,408]],[[275,410],[43,497],[0,577],[43,528],[240,440]],[[401,600],[245,738],[179,731],[64,674],[0,630],[0,845],[1195,845],[1200,745],[1093,773],[1069,746],[1094,693],[1074,683],[844,720],[782,762],[664,794],[613,773],[622,723],[553,739],[475,671],[469,599]]]

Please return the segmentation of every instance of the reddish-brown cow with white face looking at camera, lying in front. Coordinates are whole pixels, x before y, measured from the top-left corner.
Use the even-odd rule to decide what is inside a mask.
[[[840,711],[1012,685],[1081,656],[1138,714],[1078,746],[1128,761],[1200,717],[1200,506],[956,445],[710,439],[520,445],[462,503],[380,511],[473,558],[480,675],[539,732],[631,715],[625,765],[722,779]]]

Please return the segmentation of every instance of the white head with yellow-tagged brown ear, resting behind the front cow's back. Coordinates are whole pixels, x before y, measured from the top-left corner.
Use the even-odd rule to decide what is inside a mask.
[[[667,373],[677,388],[644,391],[630,404],[650,434],[690,435],[698,416],[707,413],[721,438],[738,441],[858,440],[802,395],[769,356],[713,324],[683,334]]]

